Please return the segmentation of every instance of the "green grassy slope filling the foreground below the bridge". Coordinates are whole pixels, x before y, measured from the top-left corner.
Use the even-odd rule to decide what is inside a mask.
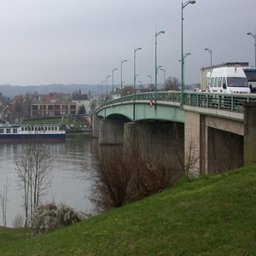
[[[0,255],[256,255],[256,166],[193,182]],[[1,254],[3,253],[3,254]]]

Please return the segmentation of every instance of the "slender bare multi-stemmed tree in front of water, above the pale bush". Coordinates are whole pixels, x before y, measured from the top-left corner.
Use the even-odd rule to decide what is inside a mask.
[[[42,196],[47,195],[52,180],[53,159],[46,143],[40,139],[28,141],[22,145],[15,156],[18,185],[24,191],[25,226]]]

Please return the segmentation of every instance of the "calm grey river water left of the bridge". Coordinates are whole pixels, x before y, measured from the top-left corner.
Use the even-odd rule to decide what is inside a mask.
[[[49,143],[49,151],[54,158],[52,185],[43,202],[55,201],[65,203],[77,211],[92,210],[90,203],[90,180],[84,166],[90,166],[93,143],[95,139],[67,139],[66,143]],[[9,185],[7,193],[7,226],[13,227],[12,221],[22,209],[23,190],[16,183],[15,152],[21,149],[21,143],[0,143],[0,191],[3,194],[4,184]],[[7,182],[6,182],[7,180]],[[0,204],[0,226],[3,225],[2,205]]]

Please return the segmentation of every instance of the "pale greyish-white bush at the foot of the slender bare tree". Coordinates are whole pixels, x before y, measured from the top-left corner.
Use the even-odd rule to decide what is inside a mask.
[[[32,213],[32,236],[38,236],[61,227],[75,224],[89,217],[85,212],[75,212],[72,207],[54,202],[38,206]]]

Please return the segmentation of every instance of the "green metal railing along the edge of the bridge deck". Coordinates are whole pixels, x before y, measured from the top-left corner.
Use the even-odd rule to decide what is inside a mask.
[[[181,91],[164,91],[157,93],[157,103],[161,102],[180,102]],[[122,102],[148,101],[154,102],[155,92],[138,93],[130,96],[123,96],[119,99],[102,103],[98,108],[104,108],[109,105]],[[207,93],[207,92],[183,92],[184,105],[202,107],[202,108],[219,108],[236,112],[243,112],[243,102],[256,102],[256,94],[223,94],[223,93]]]

